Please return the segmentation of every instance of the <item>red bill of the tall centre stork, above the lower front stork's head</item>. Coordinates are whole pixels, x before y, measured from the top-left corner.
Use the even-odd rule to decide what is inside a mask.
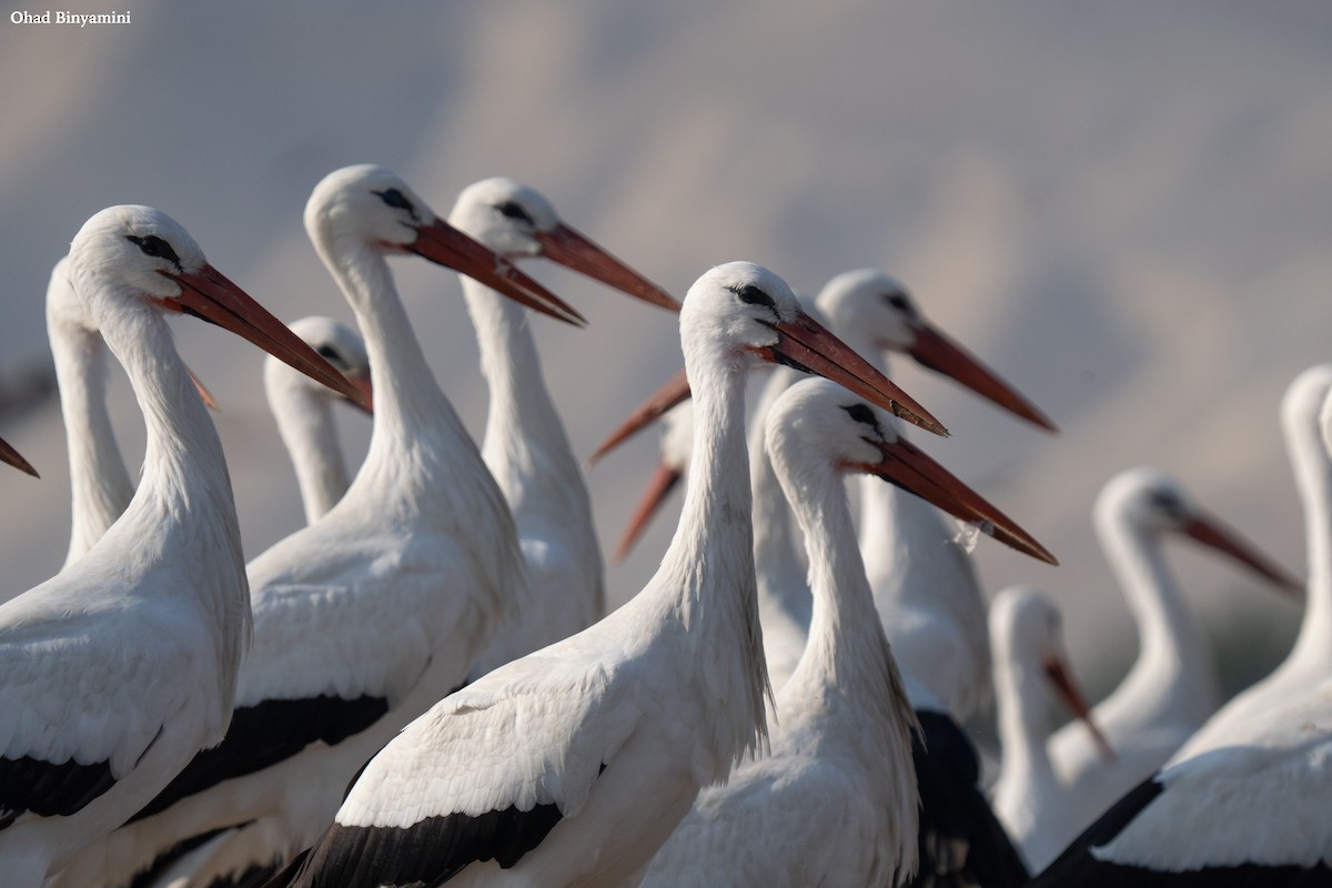
[[[817,373],[926,431],[936,435],[948,434],[943,423],[916,403],[915,398],[895,386],[809,314],[801,312],[794,321],[767,326],[777,332],[778,341],[775,345],[755,349],[762,358],[806,373]]]

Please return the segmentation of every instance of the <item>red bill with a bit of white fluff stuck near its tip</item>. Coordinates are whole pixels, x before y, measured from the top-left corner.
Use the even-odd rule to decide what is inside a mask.
[[[907,493],[934,503],[950,515],[976,525],[1010,549],[1038,560],[1058,564],[1050,551],[1002,511],[971,490],[951,471],[927,457],[906,438],[879,445],[883,459],[875,463],[852,463],[850,467],[878,475]]]

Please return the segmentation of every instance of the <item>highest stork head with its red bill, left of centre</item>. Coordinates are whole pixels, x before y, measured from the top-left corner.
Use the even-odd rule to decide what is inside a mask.
[[[305,232],[329,268],[369,249],[416,253],[473,277],[530,309],[570,324],[583,318],[494,250],[434,214],[398,176],[358,164],[333,170],[305,204]]]

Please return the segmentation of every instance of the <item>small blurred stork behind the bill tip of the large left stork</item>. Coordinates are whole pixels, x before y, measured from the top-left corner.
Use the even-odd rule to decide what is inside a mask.
[[[373,407],[370,357],[360,333],[320,314],[293,321],[290,328],[357,387],[362,397],[357,406]],[[333,402],[346,399],[325,386],[313,385],[309,377],[293,373],[274,358],[264,359],[264,393],[296,469],[305,523],[314,523],[349,486],[346,458],[333,425]]]

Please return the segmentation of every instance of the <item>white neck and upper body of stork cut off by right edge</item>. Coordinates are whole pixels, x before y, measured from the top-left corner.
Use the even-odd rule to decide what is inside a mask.
[[[1171,759],[1180,762],[1229,743],[1235,731],[1273,706],[1304,696],[1332,676],[1332,363],[1309,367],[1281,399],[1281,429],[1304,509],[1308,594],[1295,646],[1271,675],[1241,691],[1188,739]]]

